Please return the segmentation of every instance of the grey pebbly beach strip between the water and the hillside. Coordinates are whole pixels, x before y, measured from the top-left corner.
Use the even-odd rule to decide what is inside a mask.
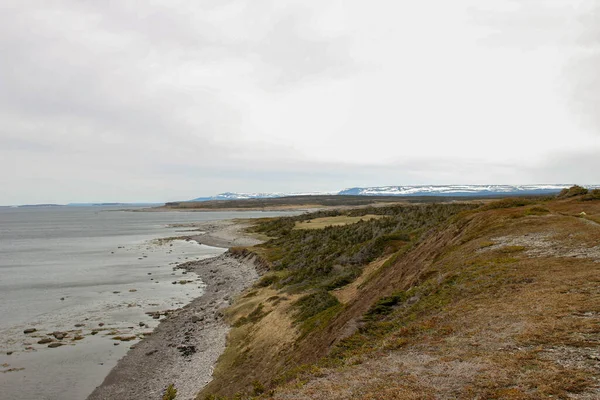
[[[191,226],[191,225],[190,225]],[[224,220],[194,224],[203,234],[189,236],[199,243],[229,248],[260,243],[242,232],[245,221]],[[160,398],[174,384],[178,399],[194,399],[212,379],[225,350],[229,325],[222,310],[259,277],[252,257],[231,253],[179,264],[206,284],[202,296],[162,320],[118,361],[88,400]]]

